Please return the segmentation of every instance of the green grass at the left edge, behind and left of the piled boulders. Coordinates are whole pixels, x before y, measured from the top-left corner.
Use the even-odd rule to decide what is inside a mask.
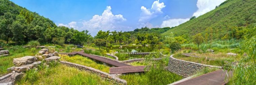
[[[13,58],[24,57],[24,56],[33,56],[38,53],[40,49],[36,49],[35,52],[32,52],[30,48],[23,48],[21,46],[14,46],[9,50],[9,56],[0,57],[0,76],[9,73],[6,69],[14,66],[12,63]]]

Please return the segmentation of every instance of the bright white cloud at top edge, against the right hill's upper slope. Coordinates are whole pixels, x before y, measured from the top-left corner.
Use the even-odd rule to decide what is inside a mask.
[[[203,15],[213,9],[216,6],[220,5],[222,2],[226,0],[197,0],[196,6],[198,10],[193,14],[193,16],[200,16]]]

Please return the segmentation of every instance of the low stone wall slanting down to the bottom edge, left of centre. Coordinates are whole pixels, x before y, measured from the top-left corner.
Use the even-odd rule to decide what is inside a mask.
[[[86,67],[86,66],[79,65],[79,64],[76,64],[76,63],[72,63],[72,62],[66,62],[66,61],[60,61],[60,62],[64,65],[69,66],[69,67],[74,67],[74,68],[77,68],[79,70],[85,70],[85,71],[89,71],[89,72],[98,74],[101,77],[103,77],[104,79],[107,79],[107,80],[109,80],[110,82],[112,82],[114,84],[127,85],[127,82],[125,80],[120,79],[118,77],[115,77],[113,75],[110,75],[108,73],[102,72],[100,70],[97,70],[97,69],[94,69],[94,68],[91,68],[91,67]]]

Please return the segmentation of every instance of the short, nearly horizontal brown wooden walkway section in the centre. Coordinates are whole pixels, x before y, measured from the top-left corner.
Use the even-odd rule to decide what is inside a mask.
[[[111,67],[109,68],[109,74],[144,72],[145,67],[146,66]]]

